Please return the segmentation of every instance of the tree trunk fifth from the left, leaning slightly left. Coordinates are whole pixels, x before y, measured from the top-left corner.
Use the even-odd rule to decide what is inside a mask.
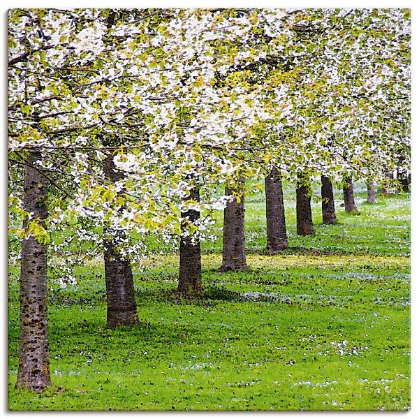
[[[266,196],[266,247],[270,253],[277,253],[288,247],[285,226],[284,194],[281,174],[273,167],[265,177]]]

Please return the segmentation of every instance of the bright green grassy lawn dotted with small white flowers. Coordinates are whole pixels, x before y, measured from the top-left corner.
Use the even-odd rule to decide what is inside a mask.
[[[102,261],[78,285],[50,281],[52,388],[15,390],[18,270],[9,275],[9,409],[18,410],[407,410],[410,407],[410,197],[364,203],[316,236],[295,234],[267,256],[263,193],[247,199],[247,272],[219,273],[218,240],[203,244],[205,293],[179,300],[178,258],[135,270],[140,325],[106,328]],[[221,230],[220,230],[221,228]]]

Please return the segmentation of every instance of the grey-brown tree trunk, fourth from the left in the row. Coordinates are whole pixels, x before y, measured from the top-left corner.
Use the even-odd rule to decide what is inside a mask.
[[[232,194],[233,191],[226,187],[226,195]],[[237,203],[237,199],[233,198],[224,209],[223,263],[221,270],[245,269],[247,269],[247,264],[244,251],[244,194],[242,193],[240,203]]]

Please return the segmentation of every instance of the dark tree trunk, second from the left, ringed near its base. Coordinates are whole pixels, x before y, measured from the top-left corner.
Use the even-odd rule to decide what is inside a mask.
[[[106,157],[103,169],[112,183],[124,177],[115,168],[112,154]],[[118,241],[124,237],[121,232],[109,227],[103,228],[103,236],[108,327],[131,326],[138,323],[133,272],[129,260],[124,260],[116,248]]]

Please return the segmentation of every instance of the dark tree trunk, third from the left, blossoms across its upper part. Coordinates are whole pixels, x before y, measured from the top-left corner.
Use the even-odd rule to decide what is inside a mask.
[[[184,200],[195,200],[199,202],[198,186],[189,191],[189,196]],[[188,210],[181,213],[182,219],[189,219],[189,222],[198,221],[200,213],[196,210]],[[181,231],[186,231],[186,222],[182,221]],[[193,242],[190,235],[180,238],[180,261],[179,261],[179,284],[177,291],[184,295],[193,295],[203,291],[201,280],[201,259],[200,259],[200,242]]]

